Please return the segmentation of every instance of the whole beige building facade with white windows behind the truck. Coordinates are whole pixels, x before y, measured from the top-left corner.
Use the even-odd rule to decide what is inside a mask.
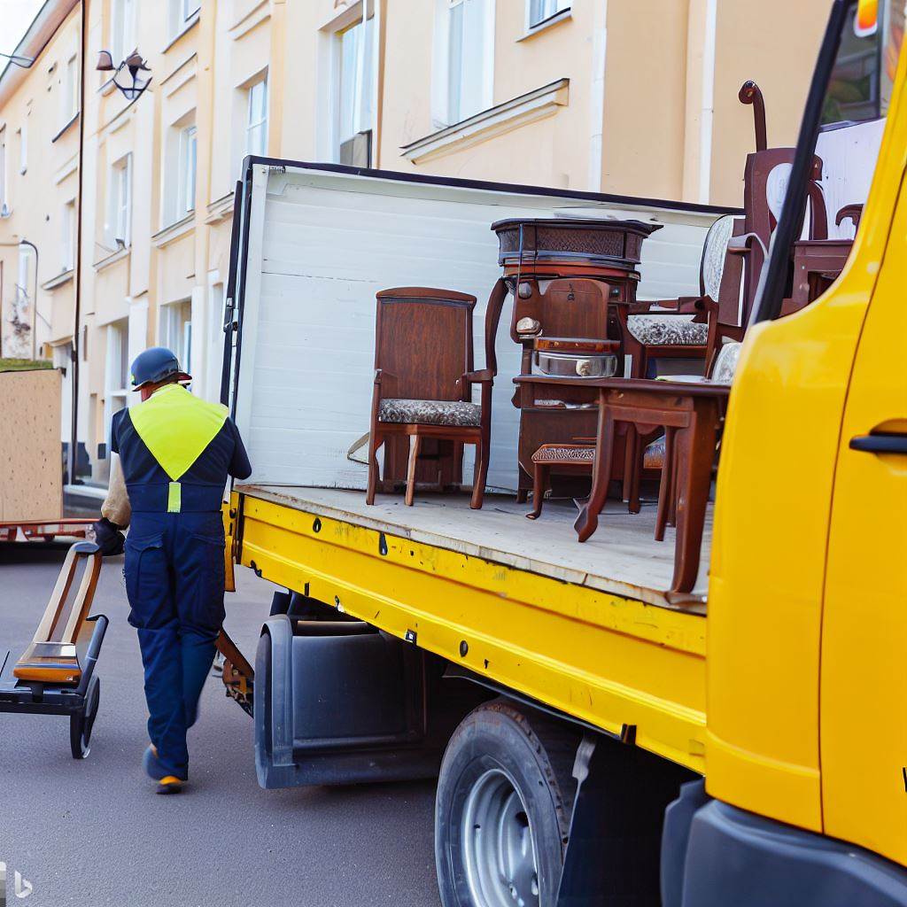
[[[0,75],[3,353],[67,367],[76,478],[100,488],[142,348],[171,346],[219,394],[247,154],[737,205],[754,147],[738,89],[762,87],[769,142],[792,144],[826,9],[47,0],[17,51],[34,64]],[[137,50],[147,90],[124,96],[102,50]],[[73,407],[63,423],[66,444]]]

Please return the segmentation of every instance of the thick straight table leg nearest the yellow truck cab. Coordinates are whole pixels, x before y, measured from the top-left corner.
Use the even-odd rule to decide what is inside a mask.
[[[696,585],[699,553],[706,524],[708,489],[715,459],[718,422],[714,400],[697,400],[687,427],[674,437],[677,457],[677,541],[672,592],[689,592]]]

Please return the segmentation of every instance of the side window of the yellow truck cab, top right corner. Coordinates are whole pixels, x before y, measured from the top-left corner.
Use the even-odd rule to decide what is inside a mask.
[[[825,94],[822,122],[877,120],[888,112],[904,32],[901,0],[883,0],[861,23],[853,3]]]

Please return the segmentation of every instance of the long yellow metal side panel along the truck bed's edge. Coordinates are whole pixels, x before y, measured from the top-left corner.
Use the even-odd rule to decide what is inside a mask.
[[[697,772],[705,619],[234,495],[260,575]]]

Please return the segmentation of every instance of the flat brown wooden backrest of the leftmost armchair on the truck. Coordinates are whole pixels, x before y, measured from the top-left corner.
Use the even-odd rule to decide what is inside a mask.
[[[449,289],[399,287],[377,294],[375,368],[393,375],[394,396],[462,400],[473,370],[475,297]]]

